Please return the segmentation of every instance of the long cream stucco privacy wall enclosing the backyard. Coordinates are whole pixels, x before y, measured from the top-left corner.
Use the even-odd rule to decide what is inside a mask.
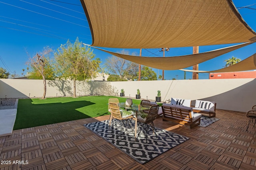
[[[212,79],[212,80],[164,80],[133,82],[77,81],[78,96],[120,95],[123,88],[127,98],[135,97],[140,89],[141,98],[155,100],[157,90],[162,101],[170,98],[209,100],[217,103],[218,109],[248,111],[256,104],[256,79]],[[41,97],[42,80],[0,79],[0,98]],[[72,96],[72,81],[47,81],[46,97]]]

